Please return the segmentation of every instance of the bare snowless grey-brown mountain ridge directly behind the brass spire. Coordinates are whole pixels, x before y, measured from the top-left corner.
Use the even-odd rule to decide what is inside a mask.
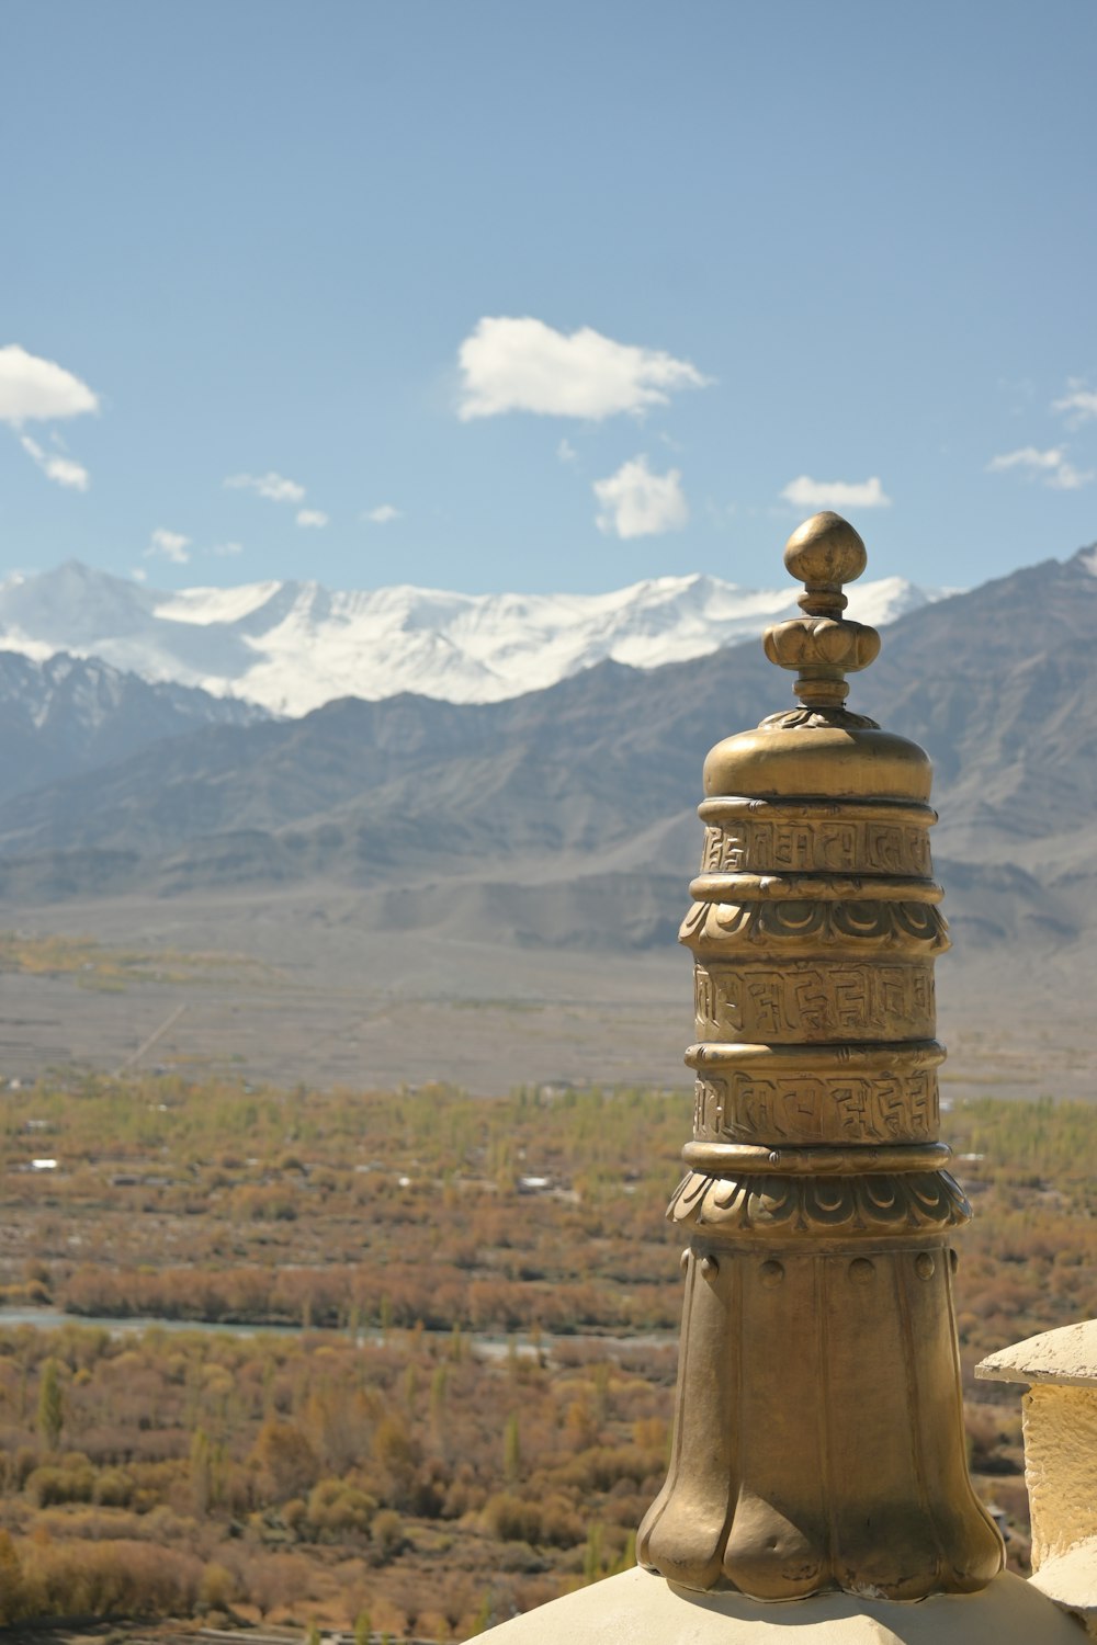
[[[1087,549],[908,612],[850,697],[934,758],[934,852],[967,948],[1074,954],[1079,977],[1097,941],[1095,633]],[[788,701],[753,638],[500,702],[206,724],[0,803],[0,897],[316,882],[365,893],[375,929],[669,944],[704,753]]]

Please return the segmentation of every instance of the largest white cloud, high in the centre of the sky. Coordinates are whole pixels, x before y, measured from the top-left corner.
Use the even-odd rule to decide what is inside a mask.
[[[709,382],[689,360],[613,342],[584,326],[566,336],[544,321],[484,317],[461,344],[462,423],[503,411],[600,421],[666,405],[674,388]]]

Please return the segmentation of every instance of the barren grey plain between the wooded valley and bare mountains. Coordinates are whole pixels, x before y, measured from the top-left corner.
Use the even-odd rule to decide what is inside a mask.
[[[446,1081],[485,1096],[539,1082],[687,1087],[689,959],[673,941],[645,952],[459,943],[370,929],[363,908],[322,885],[0,905],[0,931],[20,933],[0,946],[0,1076],[160,1066],[283,1084]],[[1077,956],[1028,969],[946,956],[944,1097],[1095,1096],[1089,995]]]

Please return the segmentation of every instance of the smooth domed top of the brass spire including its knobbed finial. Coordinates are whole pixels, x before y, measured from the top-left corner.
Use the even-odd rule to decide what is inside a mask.
[[[801,707],[717,744],[706,762],[706,793],[924,803],[926,753],[845,709],[845,676],[868,668],[880,651],[877,630],[845,617],[842,587],[865,569],[865,544],[840,515],[817,513],[789,536],[785,564],[804,584],[803,615],[766,628],[763,646],[771,663],[796,670]]]

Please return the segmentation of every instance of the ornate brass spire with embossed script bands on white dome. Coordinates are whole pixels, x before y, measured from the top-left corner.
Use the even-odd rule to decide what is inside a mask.
[[[816,515],[785,563],[804,615],[765,650],[803,707],[706,760],[678,1420],[638,1553],[758,1599],[969,1592],[1002,1540],[965,1464],[931,768],[844,707],[880,648],[842,615],[859,535]]]

